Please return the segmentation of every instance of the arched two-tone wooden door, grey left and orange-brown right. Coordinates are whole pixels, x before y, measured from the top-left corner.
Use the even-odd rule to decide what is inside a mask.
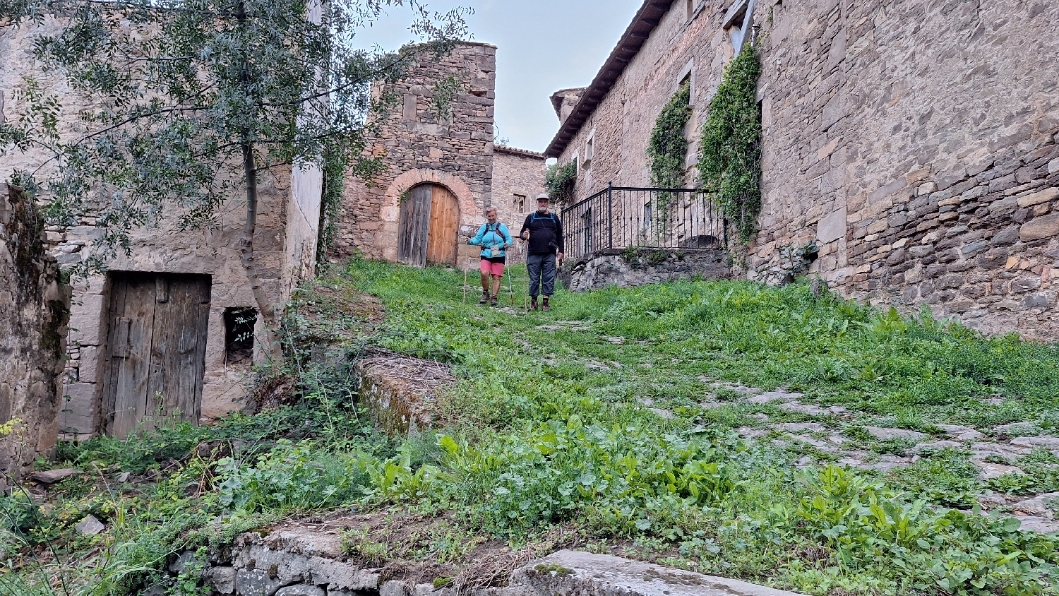
[[[460,202],[441,184],[413,186],[401,200],[397,260],[455,265]]]

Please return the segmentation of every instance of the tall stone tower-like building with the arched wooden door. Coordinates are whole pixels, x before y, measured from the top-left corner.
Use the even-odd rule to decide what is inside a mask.
[[[495,46],[463,42],[423,55],[407,78],[378,90],[399,100],[371,143],[385,167],[345,181],[336,256],[477,268],[480,249],[466,237],[485,210],[521,223],[526,201],[543,192],[544,156],[493,145],[496,64]]]

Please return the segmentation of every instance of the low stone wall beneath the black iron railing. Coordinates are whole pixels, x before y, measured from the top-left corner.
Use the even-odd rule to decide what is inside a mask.
[[[584,292],[610,286],[629,288],[676,279],[726,279],[732,276],[722,250],[622,251],[605,249],[563,267],[559,273],[568,290]]]

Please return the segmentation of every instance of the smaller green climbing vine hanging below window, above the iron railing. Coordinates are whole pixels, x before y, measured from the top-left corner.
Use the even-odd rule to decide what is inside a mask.
[[[680,188],[684,185],[684,160],[687,157],[684,127],[692,118],[690,100],[692,87],[684,83],[654,121],[647,145],[647,159],[651,165],[651,185],[656,187]]]

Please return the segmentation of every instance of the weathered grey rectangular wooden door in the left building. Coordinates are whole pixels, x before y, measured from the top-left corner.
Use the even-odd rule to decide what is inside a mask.
[[[198,422],[209,314],[208,275],[112,274],[103,398],[107,434],[124,438],[140,425]]]

